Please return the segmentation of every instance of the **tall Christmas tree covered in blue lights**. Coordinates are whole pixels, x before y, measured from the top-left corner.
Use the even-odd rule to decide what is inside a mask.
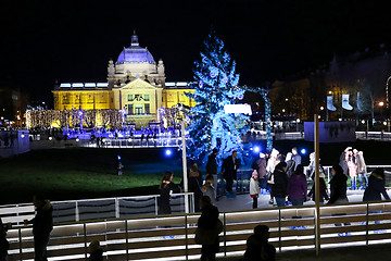
[[[188,130],[191,141],[187,151],[192,160],[203,160],[213,148],[218,148],[220,157],[234,150],[242,151],[241,136],[247,132],[249,116],[225,114],[224,105],[234,104],[243,98],[245,89],[239,87],[236,62],[220,40],[212,32],[204,41],[201,61],[195,61],[194,94],[186,94],[194,99],[191,108]]]

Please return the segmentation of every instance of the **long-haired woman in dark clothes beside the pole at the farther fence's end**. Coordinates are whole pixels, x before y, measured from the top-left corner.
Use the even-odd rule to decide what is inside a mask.
[[[173,177],[174,177],[174,173],[173,172],[165,172],[162,181],[159,185],[159,189],[160,189],[160,198],[157,200],[159,203],[159,214],[171,214],[172,210],[171,210],[171,206],[169,206],[169,200],[171,200],[171,194],[173,192],[179,192],[180,191],[180,187],[179,185],[173,183]]]

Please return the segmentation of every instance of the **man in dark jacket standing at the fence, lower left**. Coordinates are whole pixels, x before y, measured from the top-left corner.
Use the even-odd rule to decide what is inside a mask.
[[[47,247],[53,229],[53,207],[40,195],[33,197],[33,203],[36,207],[36,215],[29,222],[26,220],[25,224],[33,223],[35,261],[47,261]]]

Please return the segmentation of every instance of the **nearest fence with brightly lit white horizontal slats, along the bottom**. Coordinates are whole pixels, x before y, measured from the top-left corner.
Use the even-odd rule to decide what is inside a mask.
[[[278,251],[315,249],[315,208],[275,208],[220,214],[224,232],[217,257],[241,256],[254,226],[270,228]],[[301,216],[293,219],[292,216]],[[108,260],[192,260],[200,247],[193,241],[198,214],[58,224],[48,254],[53,260],[85,260],[87,247],[100,240]],[[391,202],[320,207],[320,246],[335,248],[389,243]],[[338,223],[350,223],[336,226]],[[292,229],[301,226],[302,229]],[[341,235],[344,236],[341,236]],[[31,227],[8,232],[10,260],[34,258]]]

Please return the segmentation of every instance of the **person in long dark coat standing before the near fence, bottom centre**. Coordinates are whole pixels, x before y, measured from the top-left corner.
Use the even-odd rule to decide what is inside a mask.
[[[201,216],[197,222],[195,240],[201,240],[201,261],[215,261],[219,250],[218,234],[223,232],[223,224],[218,220],[218,209],[212,204],[211,198],[200,198]]]

